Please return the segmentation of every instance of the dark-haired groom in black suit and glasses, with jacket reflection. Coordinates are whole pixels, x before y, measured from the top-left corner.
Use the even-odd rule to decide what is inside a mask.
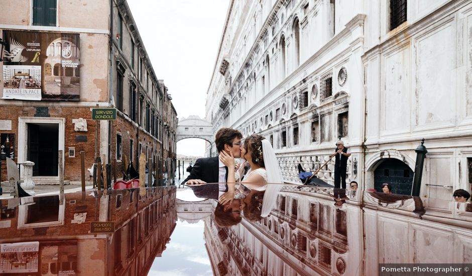
[[[224,151],[227,154],[232,153],[234,158],[241,157],[241,139],[243,134],[237,129],[220,128],[215,135],[215,145],[218,153]],[[181,183],[189,186],[206,183],[226,183],[227,168],[218,159],[218,157],[199,158],[193,165],[190,175]],[[202,185],[192,187],[195,196],[203,198],[212,198],[218,200],[219,191],[227,191],[226,184]]]

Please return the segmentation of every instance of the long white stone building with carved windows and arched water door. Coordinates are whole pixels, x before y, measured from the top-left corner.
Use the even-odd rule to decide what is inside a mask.
[[[469,1],[231,1],[207,91],[207,119],[270,139],[287,183],[340,138],[347,180],[421,196],[470,191]],[[438,46],[439,45],[439,46]],[[209,149],[207,148],[207,153]],[[318,176],[333,182],[333,162]]]

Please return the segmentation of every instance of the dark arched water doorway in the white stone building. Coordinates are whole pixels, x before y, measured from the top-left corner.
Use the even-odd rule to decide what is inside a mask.
[[[374,188],[382,192],[382,184],[392,186],[392,193],[411,195],[413,171],[402,161],[394,158],[384,159],[374,171]]]

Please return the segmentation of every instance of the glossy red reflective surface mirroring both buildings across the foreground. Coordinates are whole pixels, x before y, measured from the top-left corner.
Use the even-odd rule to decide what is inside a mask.
[[[241,187],[224,206],[217,184],[2,199],[0,273],[400,275],[442,263],[470,275],[469,203],[278,188]]]

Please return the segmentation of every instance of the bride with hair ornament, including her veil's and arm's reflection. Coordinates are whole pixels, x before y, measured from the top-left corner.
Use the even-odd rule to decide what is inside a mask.
[[[266,217],[275,207],[278,193],[283,184],[274,149],[264,136],[252,134],[244,140],[241,157],[251,165],[242,184],[251,190],[265,191],[261,216]],[[232,153],[228,155],[221,152],[219,159],[228,167],[228,192],[219,198],[219,202],[224,205],[234,199],[235,162]]]

